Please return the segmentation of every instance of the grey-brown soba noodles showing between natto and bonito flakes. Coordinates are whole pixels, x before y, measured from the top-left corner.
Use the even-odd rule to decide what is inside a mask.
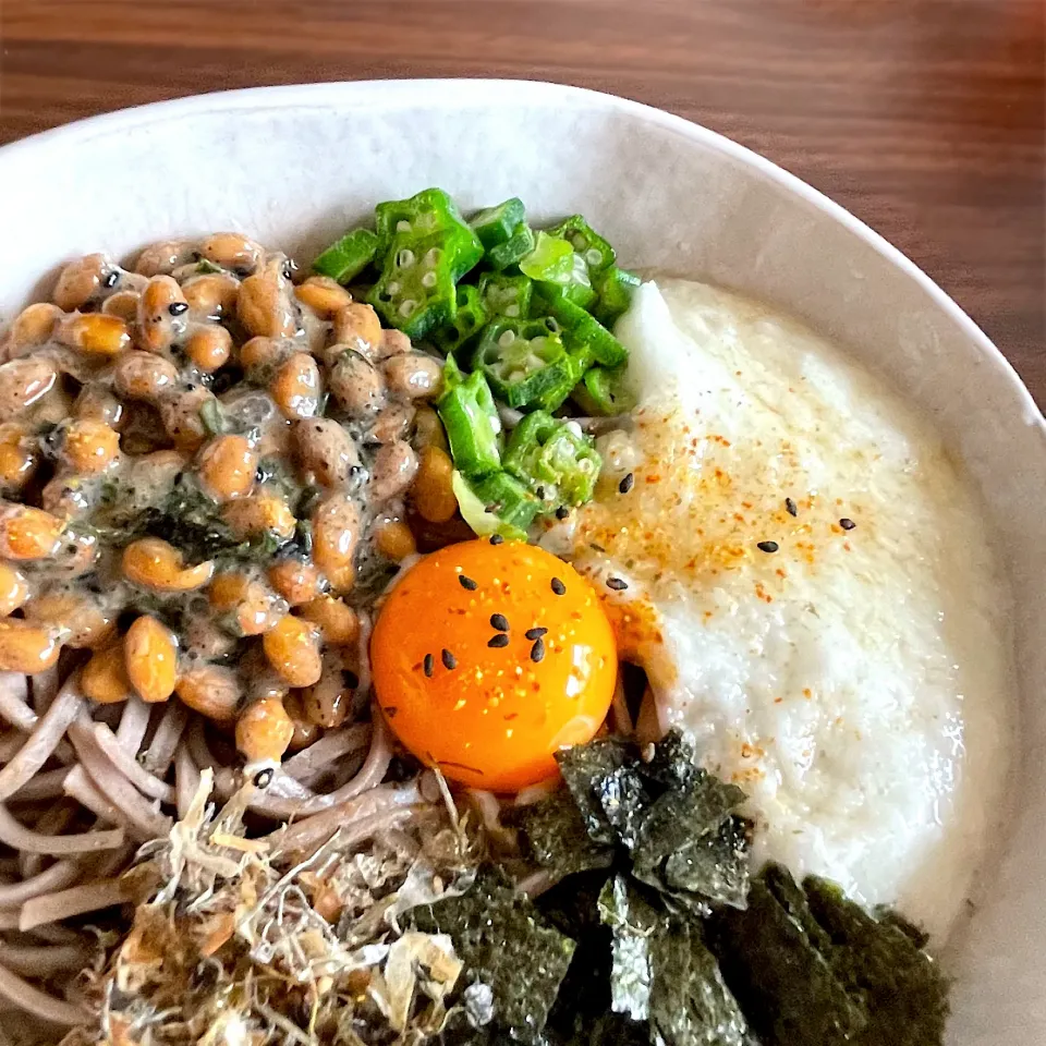
[[[361,616],[360,686],[368,686],[369,622]],[[89,965],[84,920],[113,923],[131,899],[122,874],[137,844],[167,836],[215,771],[227,800],[242,775],[211,725],[178,701],[94,705],[76,671],[0,674],[0,843],[16,860],[0,876],[0,1000],[56,1025],[82,1023],[70,971]],[[268,840],[307,852],[336,832],[345,846],[398,828],[426,802],[419,779],[382,783],[392,744],[380,719],[331,729],[290,756],[268,788],[248,788],[252,815],[278,823]],[[319,790],[325,787],[327,791]],[[10,934],[14,934],[9,939]],[[70,994],[72,993],[72,994]],[[68,997],[63,997],[68,996]]]

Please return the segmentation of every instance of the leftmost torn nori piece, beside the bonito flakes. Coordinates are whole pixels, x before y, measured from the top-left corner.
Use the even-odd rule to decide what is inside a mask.
[[[414,920],[424,933],[450,935],[471,976],[494,992],[498,1025],[519,1042],[540,1041],[574,953],[571,938],[492,868],[467,893],[417,909]]]

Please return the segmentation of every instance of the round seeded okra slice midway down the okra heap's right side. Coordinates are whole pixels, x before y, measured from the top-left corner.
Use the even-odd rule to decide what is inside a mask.
[[[540,319],[490,324],[476,346],[473,366],[509,406],[547,411],[567,399],[584,369],[579,357],[568,354],[559,330]]]

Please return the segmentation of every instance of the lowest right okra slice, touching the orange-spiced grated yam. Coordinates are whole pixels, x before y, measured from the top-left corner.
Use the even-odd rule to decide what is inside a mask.
[[[504,451],[506,470],[552,504],[591,500],[601,466],[591,436],[583,435],[575,422],[545,411],[524,417]]]

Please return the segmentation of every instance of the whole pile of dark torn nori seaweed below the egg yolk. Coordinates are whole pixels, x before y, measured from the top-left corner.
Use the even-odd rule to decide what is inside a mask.
[[[750,879],[744,793],[700,768],[690,739],[670,733],[648,762],[615,739],[558,758],[568,788],[515,823],[565,877],[532,904],[487,874],[479,903],[433,909],[459,905],[438,928],[495,988],[513,1042],[939,1046],[947,984],[922,931],[780,865]],[[462,1046],[501,1042],[472,1034]]]

